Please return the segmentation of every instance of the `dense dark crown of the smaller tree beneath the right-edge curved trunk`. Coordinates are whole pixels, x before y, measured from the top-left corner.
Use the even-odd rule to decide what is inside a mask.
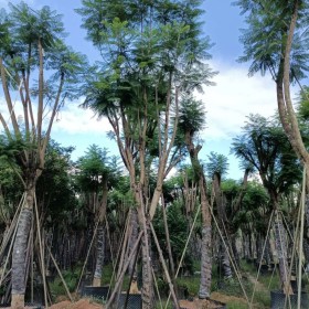
[[[258,171],[269,192],[288,192],[300,180],[299,161],[277,121],[251,115],[243,134],[233,139],[232,152]]]

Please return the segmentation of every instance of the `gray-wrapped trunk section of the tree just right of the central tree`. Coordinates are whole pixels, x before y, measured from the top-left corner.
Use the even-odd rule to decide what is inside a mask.
[[[209,298],[212,283],[212,228],[202,230],[201,283],[199,298]]]

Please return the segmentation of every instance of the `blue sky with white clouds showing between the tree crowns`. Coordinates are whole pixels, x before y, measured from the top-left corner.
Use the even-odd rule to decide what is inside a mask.
[[[18,1],[12,1],[17,3]],[[50,6],[63,14],[63,21],[68,32],[67,43],[74,50],[88,56],[89,62],[97,57],[90,42],[85,40],[86,33],[81,25],[81,17],[74,12],[81,7],[79,0],[28,0],[33,8]],[[270,77],[256,75],[247,77],[248,64],[239,64],[237,57],[242,55],[242,45],[238,42],[239,28],[245,28],[239,10],[231,6],[227,0],[204,1],[205,9],[205,34],[215,44],[211,54],[211,66],[219,71],[214,82],[216,86],[206,87],[204,94],[199,94],[205,103],[207,110],[207,124],[201,134],[204,146],[201,158],[207,159],[211,151],[228,157],[230,173],[233,179],[242,178],[243,172],[238,169],[238,161],[230,156],[232,138],[241,132],[241,127],[249,113],[259,113],[270,116],[276,110],[275,84]],[[8,1],[0,0],[0,8],[7,8]],[[92,143],[99,147],[116,149],[106,138],[109,130],[108,122],[98,121],[89,110],[79,109],[82,102],[70,103],[63,109],[54,125],[52,137],[63,146],[75,146],[73,159],[83,156]]]

